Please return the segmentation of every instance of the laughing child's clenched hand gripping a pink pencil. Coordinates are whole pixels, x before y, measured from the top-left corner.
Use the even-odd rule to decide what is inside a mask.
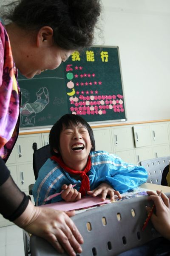
[[[81,199],[81,193],[77,191],[77,189],[72,188],[72,185],[62,185],[62,190],[64,190],[61,194],[62,199],[66,202],[74,202]]]

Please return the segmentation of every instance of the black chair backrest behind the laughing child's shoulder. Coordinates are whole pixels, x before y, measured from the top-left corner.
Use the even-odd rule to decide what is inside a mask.
[[[37,180],[38,172],[41,166],[46,162],[46,160],[51,157],[50,145],[45,145],[42,148],[37,149],[37,143],[33,143],[32,148],[34,149],[33,153],[33,169],[35,180]]]

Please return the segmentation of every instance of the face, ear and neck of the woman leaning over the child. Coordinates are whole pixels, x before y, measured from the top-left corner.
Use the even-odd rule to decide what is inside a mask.
[[[16,29],[16,26],[14,28]],[[54,32],[49,26],[43,26],[38,32],[28,34],[18,27],[16,30],[19,44],[13,52],[14,61],[20,73],[27,78],[33,78],[44,70],[56,69],[73,52],[54,44]]]

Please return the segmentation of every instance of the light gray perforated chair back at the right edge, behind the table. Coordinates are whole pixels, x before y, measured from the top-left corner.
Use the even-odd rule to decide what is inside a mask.
[[[163,170],[169,163],[170,163],[170,156],[144,160],[144,161],[141,161],[139,164],[147,170],[148,183],[161,185]]]

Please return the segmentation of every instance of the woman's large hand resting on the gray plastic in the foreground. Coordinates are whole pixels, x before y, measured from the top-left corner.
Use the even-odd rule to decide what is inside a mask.
[[[26,210],[14,223],[29,233],[46,239],[59,253],[65,250],[68,255],[76,256],[76,253],[82,252],[80,244],[83,239],[69,218],[74,214],[74,211],[62,212],[46,207],[34,207],[29,201]]]

